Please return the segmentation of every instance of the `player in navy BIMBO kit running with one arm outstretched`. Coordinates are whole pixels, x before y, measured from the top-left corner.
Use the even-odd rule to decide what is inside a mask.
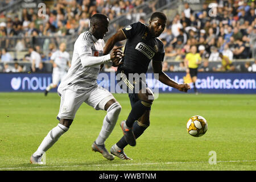
[[[141,22],[130,24],[113,35],[104,47],[104,55],[106,55],[115,43],[127,39],[123,64],[118,66],[117,75],[118,73],[121,75],[118,84],[129,93],[132,109],[126,121],[120,124],[123,137],[110,149],[110,152],[120,159],[131,159],[123,152],[123,148],[127,144],[135,146],[136,139],[150,125],[150,109],[154,101],[154,94],[147,87],[145,79],[139,78],[139,81],[131,81],[133,78],[130,79],[130,77],[135,73],[146,73],[148,64],[152,60],[154,73],[159,75],[160,82],[181,92],[187,92],[190,89],[188,84],[177,84],[162,71],[164,46],[157,37],[164,31],[166,21],[164,13],[155,12],[151,15],[148,25]],[[139,91],[136,92],[138,87]]]

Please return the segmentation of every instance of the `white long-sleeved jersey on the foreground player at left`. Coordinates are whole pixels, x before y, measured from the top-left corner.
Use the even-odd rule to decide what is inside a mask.
[[[100,64],[110,61],[110,55],[103,56],[104,46],[104,40],[97,40],[89,31],[80,34],[74,44],[71,68],[61,81],[58,92],[68,88],[82,91],[97,85]]]

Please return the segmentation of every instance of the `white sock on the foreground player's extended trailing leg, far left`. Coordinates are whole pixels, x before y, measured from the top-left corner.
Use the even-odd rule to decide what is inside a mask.
[[[43,139],[42,143],[38,147],[38,150],[33,154],[34,156],[42,155],[43,152],[46,152],[57,140],[63,135],[66,131],[68,131],[68,127],[61,125],[60,123],[54,127],[47,136]]]

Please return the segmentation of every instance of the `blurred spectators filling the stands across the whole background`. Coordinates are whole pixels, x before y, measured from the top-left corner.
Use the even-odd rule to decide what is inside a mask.
[[[147,0],[57,0],[52,7],[46,7],[46,16],[38,16],[34,9],[23,9],[22,14],[0,14],[0,72],[18,72],[22,70],[19,65],[8,68],[10,61],[30,62],[31,55],[40,57],[40,67],[44,61],[48,61],[57,45],[52,42],[47,44],[47,52],[42,48],[40,38],[42,36],[68,36],[78,35],[88,30],[89,19],[95,13],[104,13],[110,20],[120,15],[135,15],[134,7],[142,5]],[[13,0],[2,1],[5,6],[14,3]],[[246,0],[219,0],[216,15],[212,15],[207,3],[200,11],[193,10],[188,3],[184,3],[181,13],[169,18],[167,27],[159,39],[164,43],[166,61],[163,63],[165,71],[184,71],[184,58],[192,46],[197,46],[200,52],[202,64],[199,71],[216,71],[209,67],[209,63],[221,61],[220,53],[234,59],[250,59],[245,61],[239,70],[232,71],[256,72],[256,9],[254,1]],[[153,11],[154,3],[150,7]],[[137,12],[138,20],[144,22],[143,12]],[[117,27],[118,29],[120,27]],[[11,56],[8,48],[12,44],[12,36],[23,37],[24,42],[18,41],[13,45],[16,51],[33,46],[22,59]],[[26,39],[32,37],[31,40]],[[39,56],[38,56],[39,55]],[[179,64],[172,64],[170,61]],[[208,66],[207,66],[208,65]],[[37,65],[39,67],[39,64]],[[19,69],[18,69],[19,68]],[[207,69],[205,69],[207,68]],[[44,70],[43,68],[40,70]],[[114,71],[106,68],[106,71]],[[23,69],[24,71],[24,69]],[[32,70],[31,70],[32,71]]]

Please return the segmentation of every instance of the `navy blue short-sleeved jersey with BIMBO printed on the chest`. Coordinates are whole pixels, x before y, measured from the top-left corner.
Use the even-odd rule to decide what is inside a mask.
[[[148,27],[141,23],[133,23],[122,29],[127,42],[125,44],[125,56],[119,69],[126,73],[146,73],[151,60],[163,61],[163,43],[150,35]]]

